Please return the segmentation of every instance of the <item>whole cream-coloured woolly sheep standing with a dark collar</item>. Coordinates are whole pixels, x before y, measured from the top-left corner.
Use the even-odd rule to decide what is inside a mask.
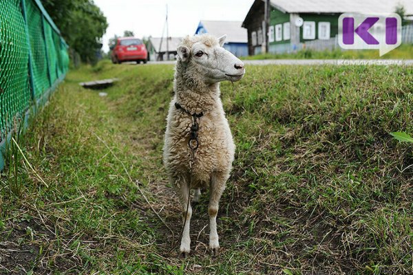
[[[184,228],[180,256],[183,257],[191,252],[191,188],[195,189],[193,202],[196,202],[200,188],[209,187],[209,250],[213,255],[220,250],[216,223],[218,203],[235,154],[235,144],[220,100],[220,82],[235,82],[245,74],[244,63],[222,47],[225,39],[226,35],[219,39],[210,34],[187,36],[177,49],[175,94],[167,115],[163,162],[182,206]],[[195,128],[199,125],[198,131],[191,130],[195,122]],[[190,135],[198,135],[198,140],[190,141]],[[199,147],[192,162],[189,145],[196,147],[197,142]]]

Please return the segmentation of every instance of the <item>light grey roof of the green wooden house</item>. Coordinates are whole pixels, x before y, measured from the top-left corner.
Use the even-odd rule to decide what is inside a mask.
[[[400,3],[406,15],[413,14],[413,0],[270,0],[288,13],[394,12]]]

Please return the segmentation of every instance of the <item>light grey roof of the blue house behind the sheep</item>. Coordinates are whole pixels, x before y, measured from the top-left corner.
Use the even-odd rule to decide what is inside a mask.
[[[226,34],[226,43],[248,43],[248,34],[241,25],[242,21],[201,20],[195,34],[208,32],[217,37]],[[205,30],[202,30],[202,28]]]

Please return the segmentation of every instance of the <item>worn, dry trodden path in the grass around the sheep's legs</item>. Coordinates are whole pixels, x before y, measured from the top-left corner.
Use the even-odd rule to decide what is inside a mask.
[[[109,102],[109,108],[114,110],[122,107],[119,102]],[[123,120],[124,118],[116,118]],[[165,121],[165,118],[160,118]],[[119,122],[120,123],[120,122]],[[166,123],[166,122],[165,122]],[[202,190],[200,202],[193,205],[193,216],[191,218],[191,256],[188,259],[179,259],[179,245],[181,232],[181,208],[176,192],[167,180],[165,168],[161,163],[163,144],[163,126],[158,127],[153,133],[144,133],[140,131],[139,123],[131,121],[130,126],[118,133],[118,137],[122,142],[128,142],[131,149],[131,154],[136,158],[145,159],[148,164],[145,169],[145,179],[148,180],[147,188],[142,188],[147,195],[151,206],[165,221],[165,224],[153,213],[149,206],[145,207],[147,214],[147,221],[149,225],[156,228],[158,239],[156,245],[158,246],[158,254],[165,259],[169,264],[174,266],[181,266],[184,263],[184,270],[192,273],[199,272],[211,274],[211,270],[204,269],[215,265],[222,265],[223,262],[227,264],[235,261],[234,256],[242,254],[243,259],[248,259],[244,263],[236,263],[240,266],[240,271],[248,270],[248,274],[255,274],[260,270],[260,266],[256,265],[257,252],[249,251],[248,248],[237,248],[234,252],[233,248],[237,243],[248,243],[248,228],[237,221],[240,217],[242,209],[244,209],[249,199],[240,192],[241,186],[237,186],[237,179],[242,175],[241,170],[233,170],[231,178],[229,179],[228,187],[224,191],[224,196],[220,202],[220,210],[218,212],[218,234],[220,235],[221,254],[225,255],[222,259],[214,258],[209,254],[209,215],[208,202],[209,191]],[[137,179],[141,181],[143,179]],[[171,230],[173,232],[171,232]],[[245,257],[245,255],[249,255]],[[237,258],[238,256],[235,256]],[[218,261],[218,262],[217,262]],[[202,268],[200,268],[202,267]]]

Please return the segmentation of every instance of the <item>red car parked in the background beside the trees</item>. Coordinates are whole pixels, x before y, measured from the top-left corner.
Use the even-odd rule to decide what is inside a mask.
[[[135,37],[122,37],[116,41],[112,49],[112,62],[120,64],[126,61],[147,63],[148,51],[142,40]]]

